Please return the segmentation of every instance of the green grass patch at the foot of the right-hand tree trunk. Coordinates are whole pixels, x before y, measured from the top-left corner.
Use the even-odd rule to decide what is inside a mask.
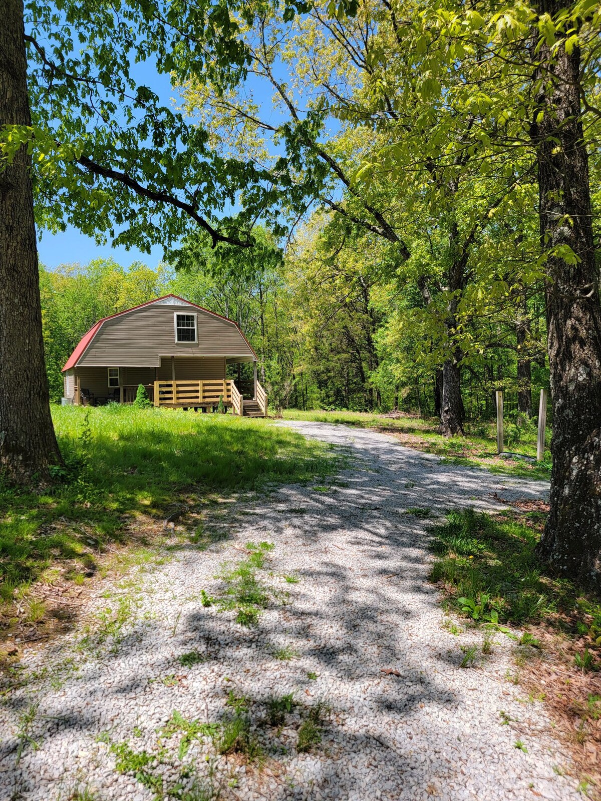
[[[430,579],[442,584],[456,614],[475,617],[478,610],[482,622],[496,612],[499,622],[514,626],[545,621],[568,636],[588,635],[595,642],[599,599],[545,573],[534,555],[541,527],[537,512],[494,517],[472,509],[450,512],[430,529],[436,554]],[[524,637],[524,644],[536,645],[530,635]]]

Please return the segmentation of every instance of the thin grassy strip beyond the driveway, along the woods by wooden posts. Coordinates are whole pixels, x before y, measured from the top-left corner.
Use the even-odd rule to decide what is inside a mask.
[[[354,425],[362,429],[376,429],[393,434],[402,445],[434,453],[442,460],[456,465],[477,465],[493,473],[510,473],[529,478],[551,477],[551,429],[547,429],[547,451],[545,460],[532,463],[522,459],[498,457],[497,426],[495,421],[468,421],[465,437],[442,437],[438,433],[438,418],[385,417],[367,412],[300,412],[296,409],[284,411],[285,420],[309,420],[322,423]],[[536,457],[536,421],[515,425],[505,421],[505,450]]]

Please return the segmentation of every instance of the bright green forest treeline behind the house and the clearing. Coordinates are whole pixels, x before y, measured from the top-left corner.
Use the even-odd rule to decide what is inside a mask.
[[[68,356],[97,320],[172,292],[236,320],[256,351],[275,408],[439,413],[442,376],[424,349],[417,287],[378,280],[367,254],[359,258],[356,249],[333,256],[324,233],[333,224],[320,215],[285,255],[274,246],[271,259],[253,260],[250,268],[248,256],[237,254],[234,268],[224,270],[210,252],[200,265],[177,272],[142,263],[125,269],[112,259],[41,268],[52,400],[63,395]],[[530,414],[531,388],[548,386],[543,296],[527,307],[518,322],[508,313],[472,323],[486,347],[462,364],[466,417],[493,415],[497,388],[505,392],[509,417]]]

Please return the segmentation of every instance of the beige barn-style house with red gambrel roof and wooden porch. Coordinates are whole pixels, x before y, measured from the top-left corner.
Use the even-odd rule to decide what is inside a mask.
[[[243,388],[227,367],[244,362],[254,365],[254,380]],[[267,414],[256,353],[237,324],[176,295],[99,320],[63,374],[64,402],[75,405],[131,403],[143,384],[155,406],[215,409],[222,400],[236,414]]]

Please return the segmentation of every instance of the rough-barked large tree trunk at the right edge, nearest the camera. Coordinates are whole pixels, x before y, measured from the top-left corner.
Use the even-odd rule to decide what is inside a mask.
[[[545,2],[539,13],[557,13]],[[601,590],[601,303],[591,226],[587,151],[580,118],[580,53],[559,43],[543,66],[532,140],[540,228],[548,253],[547,328],[553,400],[551,513],[538,555],[559,574]],[[536,84],[535,84],[536,85]],[[577,264],[556,255],[571,248]]]

